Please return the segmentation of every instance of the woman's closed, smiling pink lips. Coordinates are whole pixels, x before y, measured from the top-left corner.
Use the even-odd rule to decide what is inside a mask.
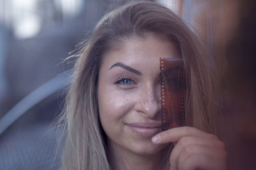
[[[161,122],[135,122],[126,125],[132,132],[140,136],[152,137],[161,132],[162,124]]]

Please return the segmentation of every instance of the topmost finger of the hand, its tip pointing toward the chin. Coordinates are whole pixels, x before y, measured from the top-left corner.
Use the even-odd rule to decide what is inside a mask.
[[[152,138],[153,143],[163,144],[179,141],[180,138],[184,136],[201,136],[204,138],[218,139],[213,134],[208,134],[206,132],[200,131],[195,127],[175,127],[168,129],[167,131],[160,132]]]

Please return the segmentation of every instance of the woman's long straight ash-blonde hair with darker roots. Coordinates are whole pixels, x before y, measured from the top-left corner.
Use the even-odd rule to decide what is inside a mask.
[[[125,38],[143,38],[147,34],[175,43],[186,72],[186,124],[214,133],[214,74],[195,35],[179,17],[160,4],[130,3],[106,14],[79,52],[62,117],[67,132],[62,169],[111,169],[105,134],[99,122],[97,79],[100,65],[104,62],[104,53]]]

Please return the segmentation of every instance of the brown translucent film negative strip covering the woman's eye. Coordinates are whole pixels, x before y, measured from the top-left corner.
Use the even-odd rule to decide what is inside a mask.
[[[160,58],[162,131],[186,125],[182,59]]]

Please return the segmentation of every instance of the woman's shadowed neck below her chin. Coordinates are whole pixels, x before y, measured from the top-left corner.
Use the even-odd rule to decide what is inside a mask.
[[[161,155],[161,152],[152,155],[138,155],[108,143],[108,159],[113,170],[156,170],[163,160]]]

